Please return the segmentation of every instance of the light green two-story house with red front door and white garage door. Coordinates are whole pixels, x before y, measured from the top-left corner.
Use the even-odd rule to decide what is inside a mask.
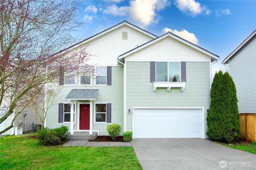
[[[205,138],[212,63],[218,56],[170,32],[157,37],[123,21],[72,47],[90,44],[95,76],[63,75],[46,127],[108,135],[118,123],[134,138]],[[71,108],[70,108],[71,106]]]

